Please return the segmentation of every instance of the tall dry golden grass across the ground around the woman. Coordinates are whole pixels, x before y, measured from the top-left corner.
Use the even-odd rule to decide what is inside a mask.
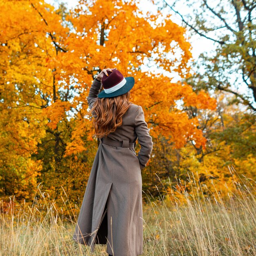
[[[244,177],[240,183],[230,171],[234,179],[232,188],[226,186],[228,199],[195,177],[188,179],[190,193],[171,189],[164,200],[145,193],[144,255],[256,256],[256,182]],[[38,195],[30,206],[24,202],[15,207],[10,198],[7,211],[2,202],[0,256],[108,255],[106,245],[96,245],[91,254],[89,247],[72,240],[77,211],[68,199],[63,199],[63,207],[70,209],[66,218],[39,186]]]

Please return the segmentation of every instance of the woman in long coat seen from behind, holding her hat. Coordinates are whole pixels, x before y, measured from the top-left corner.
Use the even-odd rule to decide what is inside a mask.
[[[107,243],[110,256],[143,253],[141,169],[150,159],[153,142],[143,109],[129,101],[134,83],[116,68],[103,69],[87,98],[100,144],[73,238],[92,252],[94,244]]]

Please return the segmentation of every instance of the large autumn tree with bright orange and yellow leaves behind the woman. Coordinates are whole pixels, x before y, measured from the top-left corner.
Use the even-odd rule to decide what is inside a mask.
[[[23,180],[27,197],[41,182],[52,198],[60,199],[65,189],[78,200],[97,150],[92,122],[85,117],[86,97],[104,67],[135,77],[131,101],[144,108],[155,139],[163,136],[176,148],[188,141],[205,146],[198,119],[189,117],[177,101],[214,109],[215,99],[157,72],[190,76],[186,30],[170,15],[143,14],[137,4],[79,1],[67,10],[38,0],[0,3],[2,194],[19,191]],[[141,71],[145,60],[154,63],[156,72]],[[14,172],[15,177],[7,177]],[[7,190],[7,179],[8,188],[15,184],[15,190]]]

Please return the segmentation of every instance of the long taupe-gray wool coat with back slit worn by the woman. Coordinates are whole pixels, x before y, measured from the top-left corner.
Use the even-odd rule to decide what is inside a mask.
[[[92,108],[102,83],[94,80],[88,96]],[[141,169],[153,149],[152,138],[141,106],[132,103],[123,124],[108,138],[138,142],[141,149],[100,143],[85,189],[73,239],[89,245],[107,244],[113,256],[137,256],[143,249]],[[106,211],[107,210],[107,211]]]

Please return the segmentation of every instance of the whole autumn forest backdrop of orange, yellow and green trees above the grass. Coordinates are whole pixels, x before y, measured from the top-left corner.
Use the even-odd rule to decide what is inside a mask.
[[[188,173],[209,189],[212,180],[229,185],[228,166],[255,179],[256,4],[224,2],[184,1],[191,12],[183,16],[161,0],[150,1],[154,13],[139,1],[81,0],[72,9],[1,1],[3,202],[32,202],[40,185],[57,204],[65,193],[81,203],[99,143],[86,97],[106,67],[135,77],[130,100],[142,106],[154,142],[144,191],[164,195],[177,180],[189,190]],[[193,59],[190,33],[216,48]]]

